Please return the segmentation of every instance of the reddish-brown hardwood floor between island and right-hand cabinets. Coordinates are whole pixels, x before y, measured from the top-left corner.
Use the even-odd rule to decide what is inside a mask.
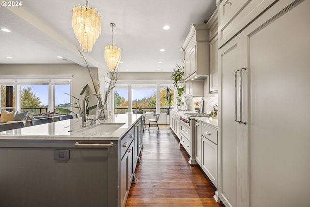
[[[168,125],[145,130],[143,153],[136,169],[126,207],[223,207],[211,182],[178,145]]]

